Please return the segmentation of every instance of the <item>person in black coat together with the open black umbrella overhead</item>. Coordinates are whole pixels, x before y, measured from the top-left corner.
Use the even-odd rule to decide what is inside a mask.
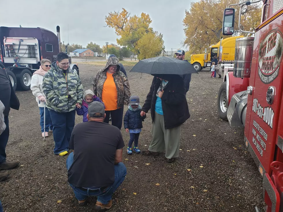
[[[179,157],[181,125],[190,117],[181,75],[198,72],[190,63],[169,57],[141,60],[131,72],[154,76],[141,112],[144,116],[151,111],[152,141],[142,154],[158,156],[166,149],[167,162],[172,163]]]

